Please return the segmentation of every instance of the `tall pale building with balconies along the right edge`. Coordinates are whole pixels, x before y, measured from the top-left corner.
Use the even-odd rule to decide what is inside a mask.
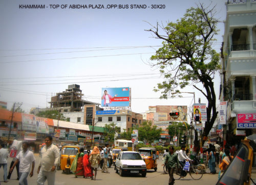
[[[224,132],[232,141],[256,133],[256,1],[228,1],[226,10],[219,99],[228,102]]]

